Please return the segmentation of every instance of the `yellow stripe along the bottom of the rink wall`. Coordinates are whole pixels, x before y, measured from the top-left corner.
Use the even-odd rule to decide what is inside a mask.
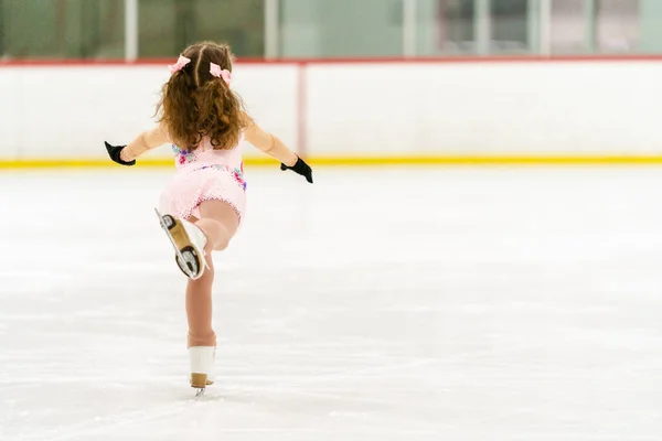
[[[662,165],[662,155],[439,155],[439,157],[311,157],[318,166],[393,165]],[[270,158],[246,158],[247,166],[277,166]],[[109,169],[120,165],[107,159],[0,159],[0,169]],[[171,169],[172,159],[139,160],[137,168]]]

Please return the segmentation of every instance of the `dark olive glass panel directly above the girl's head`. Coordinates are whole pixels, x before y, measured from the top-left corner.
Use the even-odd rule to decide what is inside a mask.
[[[140,0],[139,56],[171,57],[189,44],[228,43],[237,56],[264,56],[263,0]]]

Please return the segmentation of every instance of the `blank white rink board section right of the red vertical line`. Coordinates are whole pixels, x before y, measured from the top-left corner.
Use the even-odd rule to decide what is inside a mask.
[[[662,63],[317,65],[316,153],[662,153]]]

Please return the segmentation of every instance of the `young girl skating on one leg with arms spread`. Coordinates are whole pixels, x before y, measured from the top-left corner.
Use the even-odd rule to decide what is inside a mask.
[[[161,195],[161,227],[175,261],[189,278],[186,316],[191,386],[212,384],[216,335],[212,329],[211,252],[224,250],[243,222],[246,182],[242,141],[246,140],[312,183],[310,166],[245,112],[231,89],[233,55],[211,42],[188,47],[163,85],[159,123],[128,146],[106,142],[110,159],[134,165],[142,153],[172,143],[177,172]]]

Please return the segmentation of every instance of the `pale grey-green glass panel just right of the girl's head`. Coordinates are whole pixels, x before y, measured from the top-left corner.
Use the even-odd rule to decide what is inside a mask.
[[[402,0],[281,0],[285,57],[402,56]]]

